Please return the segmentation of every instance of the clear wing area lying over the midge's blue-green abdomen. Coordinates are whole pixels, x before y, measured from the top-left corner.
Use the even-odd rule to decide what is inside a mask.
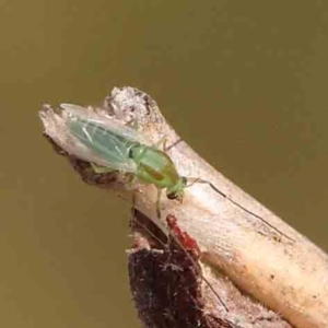
[[[93,120],[73,117],[67,120],[70,132],[99,157],[106,167],[136,172],[136,163],[129,159],[132,143],[122,136],[113,133]]]

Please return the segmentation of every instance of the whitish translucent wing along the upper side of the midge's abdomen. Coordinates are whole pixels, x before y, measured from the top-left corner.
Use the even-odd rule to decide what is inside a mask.
[[[61,104],[60,107],[63,109],[63,114],[67,115],[68,118],[72,119],[75,117],[78,120],[93,122],[94,125],[97,125],[98,127],[103,127],[104,129],[110,131],[113,134],[124,137],[127,141],[151,145],[151,142],[149,142],[137,130],[122,125],[114,117],[99,115],[98,113],[93,110],[94,108],[92,107],[85,108],[72,104]]]

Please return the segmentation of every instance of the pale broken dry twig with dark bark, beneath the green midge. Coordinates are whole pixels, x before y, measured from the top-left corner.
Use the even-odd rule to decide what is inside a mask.
[[[155,188],[136,185],[132,190],[134,246],[128,253],[129,273],[145,327],[328,327],[324,251],[197,155],[145,93],[114,89],[106,106],[119,113],[122,122],[138,117],[139,130],[154,143],[165,136],[172,145],[168,154],[181,175],[201,177],[223,192],[195,184],[183,204],[163,196],[161,211],[167,225],[155,213]],[[52,114],[43,115],[43,122],[57,152],[70,160],[86,183],[130,201],[124,175],[95,174],[89,163],[65,151],[63,131]]]

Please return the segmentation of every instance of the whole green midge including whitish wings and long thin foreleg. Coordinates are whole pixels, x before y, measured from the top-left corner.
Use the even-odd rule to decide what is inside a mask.
[[[143,184],[153,184],[157,188],[156,212],[161,216],[160,200],[163,189],[168,199],[183,201],[184,191],[196,183],[206,184],[215,192],[227,199],[245,212],[259,219],[270,229],[293,241],[261,216],[247,210],[226,194],[219,190],[212,183],[201,178],[187,178],[180,176],[172,159],[160,150],[165,143],[160,140],[151,144],[145,138],[133,129],[125,126],[113,117],[98,118],[84,107],[71,104],[61,104],[66,124],[69,131],[92,152],[81,155],[82,160],[91,162],[96,173],[119,171],[130,173],[133,179]],[[188,185],[188,181],[191,181]]]

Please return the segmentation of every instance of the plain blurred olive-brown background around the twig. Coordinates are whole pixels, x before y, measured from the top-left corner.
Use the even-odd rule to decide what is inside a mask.
[[[328,249],[327,1],[0,4],[0,327],[139,327],[129,209],[55,155],[43,103],[144,90],[210,163]]]

